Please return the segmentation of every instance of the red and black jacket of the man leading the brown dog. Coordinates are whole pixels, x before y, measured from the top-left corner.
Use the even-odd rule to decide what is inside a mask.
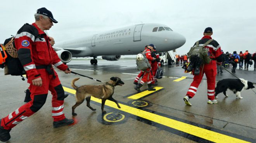
[[[18,51],[19,60],[21,61],[28,82],[40,77],[36,70],[37,65],[55,65],[62,71],[65,71],[68,66],[64,65],[59,59],[57,53],[50,45],[49,37],[38,26],[33,23],[38,36],[35,35],[34,28],[29,25],[24,25],[19,29],[15,37],[15,46]]]

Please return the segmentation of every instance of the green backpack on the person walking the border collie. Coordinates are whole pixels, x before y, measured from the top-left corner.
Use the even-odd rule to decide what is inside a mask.
[[[211,58],[210,55],[208,55],[209,49],[204,48],[206,45],[208,45],[209,43],[211,43],[211,41],[213,41],[213,39],[209,39],[204,45],[199,46],[199,41],[196,42],[195,46],[191,47],[189,52],[187,53],[187,55],[189,56],[189,58],[194,57],[194,56],[198,56],[199,58],[202,59],[202,63],[206,64],[206,63],[210,63]],[[190,59],[191,60],[191,59]]]

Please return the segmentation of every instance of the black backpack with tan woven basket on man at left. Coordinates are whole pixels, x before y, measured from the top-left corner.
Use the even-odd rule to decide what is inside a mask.
[[[35,36],[35,39],[39,37],[38,31],[35,26],[30,25],[28,23],[24,24],[23,26],[31,26],[33,31],[31,34]],[[22,27],[23,27],[22,26]],[[19,29],[21,31],[22,27]],[[18,33],[19,33],[18,31]],[[5,75],[24,75],[26,74],[21,61],[18,58],[17,49],[14,43],[15,37],[10,37],[8,39],[5,39],[4,47],[6,50],[7,58],[5,60],[5,63],[0,66],[1,68],[4,67],[4,74]]]

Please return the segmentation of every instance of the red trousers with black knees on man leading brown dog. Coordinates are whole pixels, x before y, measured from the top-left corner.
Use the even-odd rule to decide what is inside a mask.
[[[31,92],[31,101],[11,112],[6,117],[2,118],[1,126],[4,129],[11,129],[17,124],[21,123],[27,117],[37,112],[47,99],[48,90],[52,93],[52,117],[54,121],[61,121],[65,119],[64,109],[64,90],[59,81],[57,73],[54,71],[53,75],[49,75],[45,69],[37,69],[42,78],[42,86],[34,86],[30,83],[29,89]]]

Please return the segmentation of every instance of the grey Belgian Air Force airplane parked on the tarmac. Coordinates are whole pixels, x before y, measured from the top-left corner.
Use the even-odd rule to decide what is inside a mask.
[[[171,51],[185,44],[186,39],[164,24],[147,23],[127,26],[95,35],[62,41],[54,50],[63,63],[72,57],[93,57],[90,63],[97,64],[97,56],[117,61],[121,55],[134,55],[154,44],[158,52]]]

